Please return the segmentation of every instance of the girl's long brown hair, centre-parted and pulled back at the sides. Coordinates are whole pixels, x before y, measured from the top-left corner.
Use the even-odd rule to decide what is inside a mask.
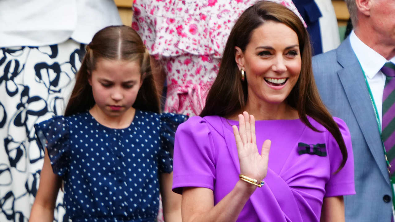
[[[95,104],[92,87],[88,83],[88,73],[96,69],[96,62],[99,58],[138,61],[143,84],[133,107],[143,111],[160,112],[159,95],[152,76],[149,53],[137,32],[123,25],[103,28],[87,45],[87,52],[77,72],[65,116],[86,112]]]

